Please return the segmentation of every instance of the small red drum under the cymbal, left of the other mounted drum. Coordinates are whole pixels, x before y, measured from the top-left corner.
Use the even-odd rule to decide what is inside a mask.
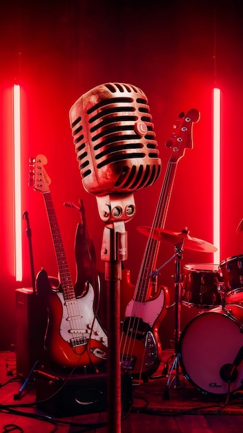
[[[215,264],[187,264],[182,281],[182,304],[198,308],[221,305],[217,284],[219,267]]]

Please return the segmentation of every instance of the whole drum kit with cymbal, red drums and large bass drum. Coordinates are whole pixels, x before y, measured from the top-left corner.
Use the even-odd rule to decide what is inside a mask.
[[[186,264],[184,249],[215,252],[212,243],[182,232],[140,226],[139,232],[175,246],[175,387],[179,365],[203,393],[230,394],[243,383],[243,255],[215,264]],[[243,220],[237,232],[243,230]],[[160,268],[159,268],[160,269]],[[157,272],[157,270],[155,271]],[[200,313],[180,331],[181,304]],[[169,386],[169,383],[167,383]]]

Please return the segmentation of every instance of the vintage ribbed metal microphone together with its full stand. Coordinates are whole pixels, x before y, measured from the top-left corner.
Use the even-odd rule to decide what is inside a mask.
[[[101,259],[108,290],[108,428],[121,431],[120,280],[127,258],[125,223],[135,214],[133,192],[152,185],[161,160],[144,92],[109,82],[84,93],[70,109],[84,189],[95,194],[105,223]]]

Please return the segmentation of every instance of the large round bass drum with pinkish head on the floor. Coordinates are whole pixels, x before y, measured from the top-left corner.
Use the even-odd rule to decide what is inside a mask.
[[[242,386],[243,307],[226,305],[197,315],[179,339],[179,362],[201,391],[227,394]],[[238,355],[238,356],[237,356]],[[233,365],[237,356],[237,362]]]

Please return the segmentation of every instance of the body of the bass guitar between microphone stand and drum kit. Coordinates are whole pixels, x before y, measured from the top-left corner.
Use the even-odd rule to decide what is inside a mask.
[[[130,291],[130,271],[123,270],[127,284],[122,280],[122,290]],[[128,293],[128,292],[127,292]],[[168,289],[160,286],[156,297],[146,302],[130,300],[126,307],[121,334],[121,367],[130,371],[134,378],[142,378],[153,374],[162,360],[162,344],[158,329],[166,314],[168,305]]]

